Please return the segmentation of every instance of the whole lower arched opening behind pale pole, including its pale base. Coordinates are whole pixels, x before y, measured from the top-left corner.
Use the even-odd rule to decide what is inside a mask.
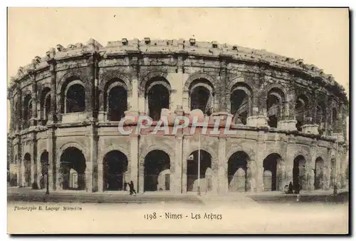
[[[187,191],[197,192],[198,185],[200,191],[206,193],[211,191],[211,155],[205,150],[200,150],[200,177],[198,177],[199,150],[195,150],[189,155],[187,160]],[[199,178],[199,180],[198,180]]]

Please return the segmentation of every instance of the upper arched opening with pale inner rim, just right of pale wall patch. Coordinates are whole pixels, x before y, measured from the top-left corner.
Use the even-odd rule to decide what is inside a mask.
[[[189,87],[190,110],[199,109],[210,116],[214,106],[214,88],[204,78],[194,80]]]

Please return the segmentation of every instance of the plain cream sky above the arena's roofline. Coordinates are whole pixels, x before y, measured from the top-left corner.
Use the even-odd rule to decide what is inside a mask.
[[[302,58],[348,91],[348,21],[347,9],[9,8],[8,81],[58,43],[194,36]]]

